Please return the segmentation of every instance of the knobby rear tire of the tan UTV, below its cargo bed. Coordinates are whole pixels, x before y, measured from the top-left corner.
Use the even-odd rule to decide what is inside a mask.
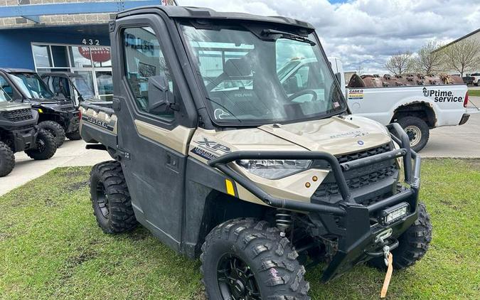
[[[132,200],[118,161],[104,161],[90,172],[93,215],[103,232],[122,233],[137,226]]]

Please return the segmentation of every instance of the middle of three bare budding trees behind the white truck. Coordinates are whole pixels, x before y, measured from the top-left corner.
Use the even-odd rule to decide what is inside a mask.
[[[444,55],[439,48],[437,41],[429,41],[418,50],[415,58],[415,69],[419,73],[433,74],[440,72],[444,68]]]

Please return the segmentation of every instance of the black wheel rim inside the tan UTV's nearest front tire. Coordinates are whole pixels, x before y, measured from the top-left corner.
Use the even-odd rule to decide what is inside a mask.
[[[220,258],[217,266],[217,281],[222,299],[262,299],[252,270],[235,255],[228,254]]]

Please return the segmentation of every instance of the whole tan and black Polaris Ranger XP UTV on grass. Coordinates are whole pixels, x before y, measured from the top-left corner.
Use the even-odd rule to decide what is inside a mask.
[[[104,232],[138,222],[200,257],[215,300],[309,299],[304,267],[327,281],[425,255],[420,157],[398,124],[348,112],[309,23],[151,6],[110,31],[114,100],[82,102],[80,123],[114,159],[90,178]],[[295,57],[316,63],[281,84]]]

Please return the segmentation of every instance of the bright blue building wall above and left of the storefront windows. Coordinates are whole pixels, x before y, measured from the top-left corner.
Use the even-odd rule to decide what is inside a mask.
[[[35,69],[31,43],[60,43],[81,45],[85,33],[75,30],[55,31],[55,28],[26,28],[0,31],[0,68],[26,68]],[[110,45],[110,39],[105,36],[91,36],[97,39],[100,45]]]

